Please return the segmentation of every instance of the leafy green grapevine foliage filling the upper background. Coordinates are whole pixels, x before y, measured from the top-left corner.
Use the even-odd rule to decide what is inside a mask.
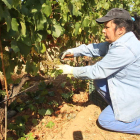
[[[104,41],[102,27],[95,19],[115,7],[140,14],[139,6],[138,0],[1,0],[0,71],[5,74],[4,89],[13,83],[15,67],[17,74],[24,65],[26,73],[36,76],[43,64],[45,74],[53,75],[62,51]]]

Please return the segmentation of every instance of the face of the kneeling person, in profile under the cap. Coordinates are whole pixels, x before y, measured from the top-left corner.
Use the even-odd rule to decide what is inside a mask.
[[[115,30],[116,24],[113,21],[108,21],[104,23],[103,33],[105,35],[105,40],[109,43],[116,41],[120,38],[120,28]]]

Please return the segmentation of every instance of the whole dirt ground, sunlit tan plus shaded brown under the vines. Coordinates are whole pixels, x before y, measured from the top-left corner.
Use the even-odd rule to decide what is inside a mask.
[[[55,96],[46,96],[44,98],[47,99],[47,103],[37,105],[38,109],[53,108],[54,113],[51,116],[41,116],[26,108],[8,120],[8,123],[14,123],[18,116],[28,116],[25,134],[32,133],[36,140],[140,140],[139,135],[122,134],[100,128],[97,122],[101,113],[100,106],[89,101],[87,92],[82,91],[82,88],[77,87],[79,90],[74,90],[66,76],[60,76],[52,82],[53,87],[47,90],[53,91]],[[66,84],[62,87],[64,82]],[[67,102],[62,98],[62,93],[68,93],[71,90],[76,93],[72,101]],[[29,99],[26,98],[26,100]],[[49,105],[48,102],[51,101],[58,103],[58,106]],[[33,120],[36,120],[36,123],[33,123]],[[50,128],[47,127],[49,122],[54,124]],[[14,140],[19,139],[15,131],[11,130],[8,130],[8,137]]]

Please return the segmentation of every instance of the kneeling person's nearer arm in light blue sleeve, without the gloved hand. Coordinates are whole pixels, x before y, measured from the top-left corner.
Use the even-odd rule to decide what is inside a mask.
[[[73,75],[80,79],[103,79],[123,69],[134,60],[135,56],[130,49],[120,45],[110,49],[102,60],[92,66],[74,67]]]

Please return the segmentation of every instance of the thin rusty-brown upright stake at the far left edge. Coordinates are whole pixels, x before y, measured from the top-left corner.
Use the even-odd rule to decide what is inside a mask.
[[[0,38],[1,38],[1,28],[0,28]],[[7,79],[5,74],[5,67],[4,67],[4,59],[3,59],[3,50],[2,50],[2,43],[0,39],[0,54],[1,54],[1,60],[2,60],[2,71],[4,74],[4,81],[5,81],[5,88],[6,88],[6,96],[5,98],[9,98],[8,95],[8,86],[7,86]],[[7,102],[5,103],[5,140],[7,139]]]

